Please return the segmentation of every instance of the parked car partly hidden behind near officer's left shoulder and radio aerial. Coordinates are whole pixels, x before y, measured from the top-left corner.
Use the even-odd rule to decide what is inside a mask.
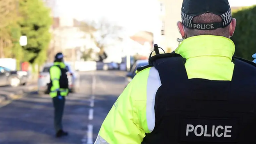
[[[138,67],[146,66],[149,64],[149,60],[137,60],[133,66],[132,69],[130,69],[130,72],[126,75],[127,81],[130,82],[136,75],[136,70]]]

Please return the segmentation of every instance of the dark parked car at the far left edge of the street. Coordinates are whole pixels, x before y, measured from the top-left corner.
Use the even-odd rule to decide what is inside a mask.
[[[27,80],[27,71],[11,71],[6,67],[0,66],[0,86],[11,85],[11,87],[18,87],[19,85],[26,85]]]

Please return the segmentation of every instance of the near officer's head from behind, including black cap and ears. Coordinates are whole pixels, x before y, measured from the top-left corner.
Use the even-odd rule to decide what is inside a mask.
[[[235,26],[228,0],[183,0],[181,18],[185,38],[205,34],[230,38]],[[181,24],[178,27],[181,30]]]

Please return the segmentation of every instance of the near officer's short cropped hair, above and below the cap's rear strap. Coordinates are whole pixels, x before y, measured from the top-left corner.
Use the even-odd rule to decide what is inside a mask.
[[[193,18],[193,23],[218,23],[221,21],[222,18],[220,16],[211,13],[201,14]],[[187,37],[210,34],[229,38],[229,25],[224,28],[218,28],[216,30],[192,30],[185,27],[185,32]]]

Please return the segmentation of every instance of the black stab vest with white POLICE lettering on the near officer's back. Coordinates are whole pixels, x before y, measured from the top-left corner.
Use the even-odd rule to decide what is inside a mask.
[[[188,79],[183,57],[163,55],[150,59],[162,85],[142,144],[256,144],[256,64],[234,58],[231,81]]]

